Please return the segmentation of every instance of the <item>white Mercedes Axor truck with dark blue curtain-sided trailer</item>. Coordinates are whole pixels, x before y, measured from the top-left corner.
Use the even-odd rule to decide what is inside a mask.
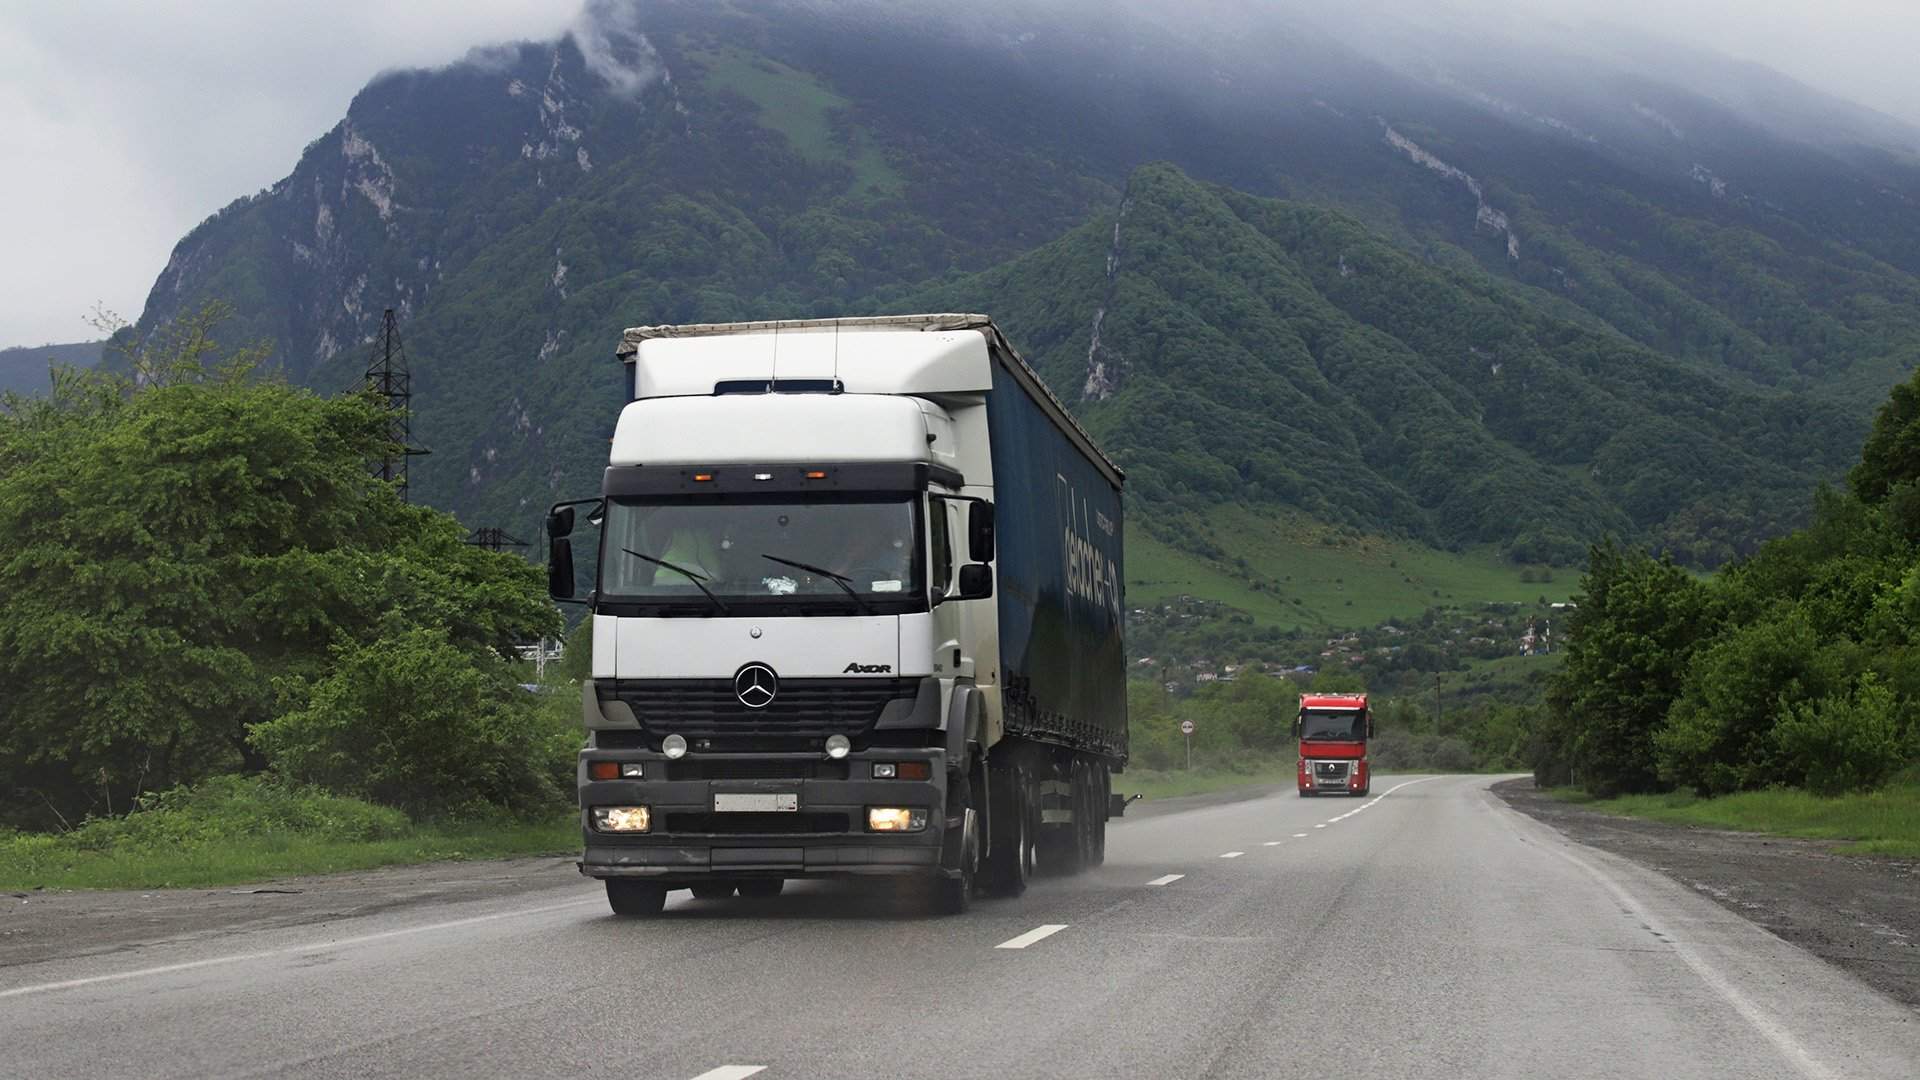
[[[945,913],[1098,863],[1123,801],[1121,473],[991,319],[626,331],[584,874],[616,915],[889,874]]]

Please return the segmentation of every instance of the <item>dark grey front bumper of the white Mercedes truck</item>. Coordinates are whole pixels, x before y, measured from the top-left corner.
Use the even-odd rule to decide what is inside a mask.
[[[691,763],[682,757],[680,763]],[[591,761],[637,761],[647,778],[588,780]],[[678,780],[659,778],[695,769],[672,769],[645,749],[586,749],[580,753],[580,828],[586,853],[580,872],[591,878],[651,878],[666,884],[716,876],[824,878],[849,874],[929,874],[941,867],[947,807],[947,763],[939,749],[870,749],[851,753],[847,778],[806,776],[818,753],[705,755],[705,761],[753,765],[795,778]],[[927,780],[872,780],[876,761],[927,761]],[[835,771],[837,773],[837,771]],[[728,813],[714,796],[797,796],[795,811]],[[637,834],[595,832],[591,807],[645,805],[651,828]],[[920,832],[868,832],[868,807],[927,811]]]

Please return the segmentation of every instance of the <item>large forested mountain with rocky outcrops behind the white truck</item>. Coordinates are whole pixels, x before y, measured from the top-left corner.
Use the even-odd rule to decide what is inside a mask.
[[[1231,559],[1236,507],[1713,565],[1799,521],[1920,365],[1920,136],[1567,40],[601,2],[371,83],[177,246],[140,325],[223,298],[346,388],[399,309],[413,490],[509,530],[597,482],[622,327],[979,307],[1190,553]]]

